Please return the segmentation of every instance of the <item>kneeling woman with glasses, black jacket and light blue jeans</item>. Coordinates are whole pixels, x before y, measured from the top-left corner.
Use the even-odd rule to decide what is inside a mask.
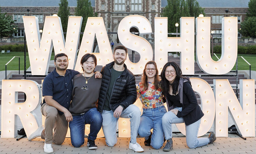
[[[197,138],[203,112],[197,103],[189,78],[182,77],[180,67],[174,62],[168,62],[161,72],[160,86],[166,98],[168,111],[162,117],[162,126],[167,143],[163,151],[172,150],[172,124],[184,123],[186,127],[186,142],[189,148],[197,148],[211,144],[216,140],[215,134],[208,138]]]

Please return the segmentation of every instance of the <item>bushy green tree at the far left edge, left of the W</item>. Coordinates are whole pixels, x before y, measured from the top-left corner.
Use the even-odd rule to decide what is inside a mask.
[[[0,23],[0,37],[9,37],[13,33],[17,33],[17,25],[13,24],[12,16],[6,16],[6,13],[0,13]]]

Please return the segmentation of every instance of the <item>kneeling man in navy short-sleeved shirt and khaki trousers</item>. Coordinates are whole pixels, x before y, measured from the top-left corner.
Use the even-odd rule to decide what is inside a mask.
[[[46,117],[45,128],[40,126],[28,138],[28,140],[32,140],[41,136],[42,139],[45,139],[45,153],[53,153],[52,142],[60,145],[65,140],[68,122],[73,120],[68,110],[73,88],[72,79],[79,74],[78,71],[67,69],[68,56],[65,53],[56,54],[54,65],[56,68],[44,78],[42,85],[44,100],[41,113]]]

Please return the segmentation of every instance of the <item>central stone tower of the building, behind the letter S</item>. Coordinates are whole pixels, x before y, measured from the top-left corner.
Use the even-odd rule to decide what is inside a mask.
[[[161,0],[95,0],[95,12],[102,17],[108,32],[117,32],[120,21],[129,15],[145,16],[151,23],[154,31],[154,18],[161,16]],[[139,32],[130,29],[131,32]],[[146,38],[151,38],[146,35]],[[110,35],[116,42],[117,35]]]

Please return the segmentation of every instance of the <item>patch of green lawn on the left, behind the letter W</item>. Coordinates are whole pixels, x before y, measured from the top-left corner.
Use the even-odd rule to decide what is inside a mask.
[[[13,56],[20,57],[20,70],[24,70],[24,52],[11,52],[11,53],[0,53],[0,71],[5,70],[5,64],[8,63]],[[54,53],[52,53],[51,60],[54,59]],[[26,68],[28,69],[29,57],[28,52],[26,52]],[[14,58],[8,65],[7,70],[19,70],[19,58]]]

